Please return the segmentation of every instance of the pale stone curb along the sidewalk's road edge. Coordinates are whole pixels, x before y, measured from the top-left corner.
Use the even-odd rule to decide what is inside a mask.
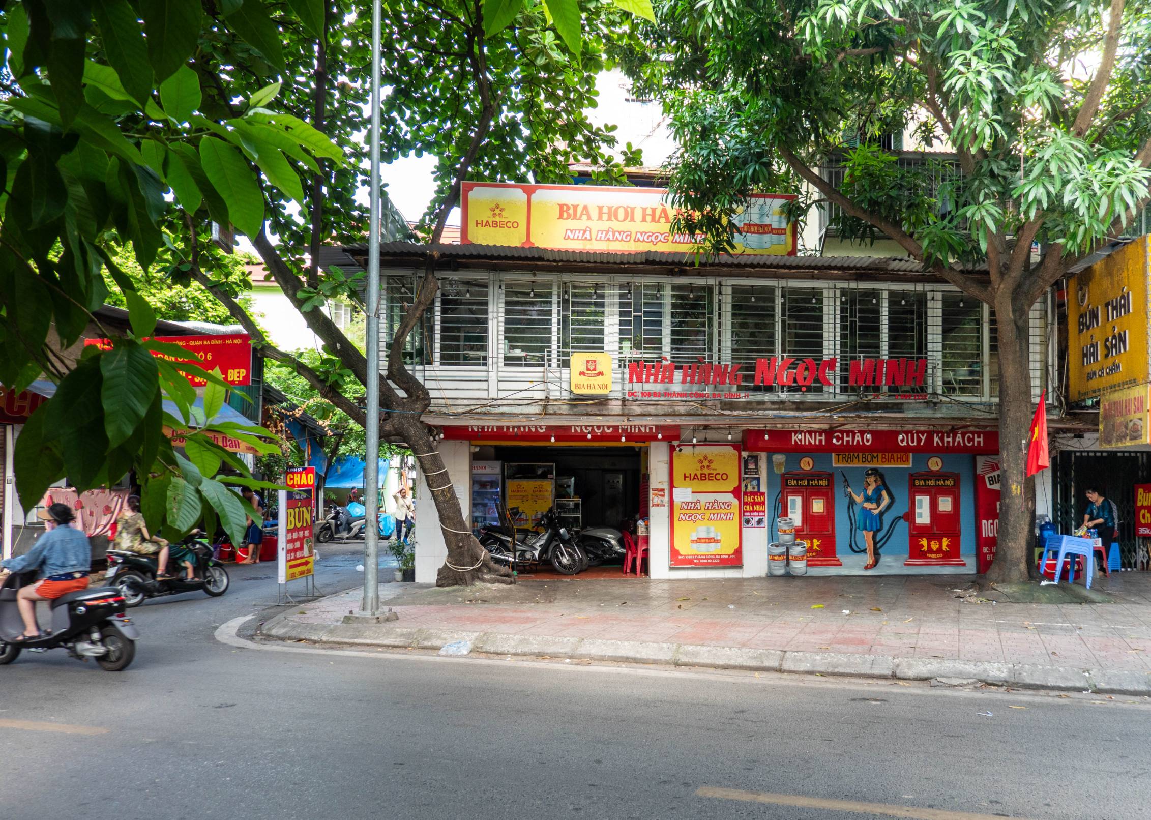
[[[1100,694],[1151,696],[1151,673],[999,663],[943,658],[895,658],[846,652],[754,650],[739,646],[521,636],[447,629],[413,629],[384,624],[318,624],[279,615],[260,635],[280,640],[352,644],[388,648],[440,650],[467,641],[473,652],[494,655],[620,661],[673,667],[744,669],[807,675],[931,681],[952,678],[994,686],[1093,691]]]

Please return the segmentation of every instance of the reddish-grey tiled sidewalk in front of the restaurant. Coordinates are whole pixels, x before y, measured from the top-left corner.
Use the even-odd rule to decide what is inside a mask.
[[[1151,675],[1151,574],[1100,577],[1114,603],[971,602],[970,578],[526,579],[437,590],[386,584],[404,628],[750,650],[1099,668]],[[996,593],[988,593],[994,597]],[[336,624],[359,590],[291,613]]]

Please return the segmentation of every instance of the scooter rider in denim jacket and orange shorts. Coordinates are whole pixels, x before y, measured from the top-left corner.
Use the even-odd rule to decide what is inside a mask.
[[[92,568],[92,545],[82,530],[69,526],[76,521],[76,516],[68,504],[55,503],[36,515],[45,522],[47,532],[23,555],[0,561],[0,567],[5,570],[0,572],[0,583],[10,572],[37,570],[36,583],[21,587],[16,593],[16,607],[24,621],[24,633],[9,641],[13,644],[40,637],[40,628],[36,622],[36,602],[51,601],[69,592],[87,589],[87,576]]]

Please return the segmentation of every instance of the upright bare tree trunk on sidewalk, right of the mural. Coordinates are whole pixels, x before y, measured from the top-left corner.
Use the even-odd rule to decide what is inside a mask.
[[[996,295],[999,342],[999,539],[988,570],[990,583],[1019,583],[1031,577],[1028,549],[1034,541],[1035,480],[1026,478],[1031,404],[1028,311],[1015,310],[1012,294]]]

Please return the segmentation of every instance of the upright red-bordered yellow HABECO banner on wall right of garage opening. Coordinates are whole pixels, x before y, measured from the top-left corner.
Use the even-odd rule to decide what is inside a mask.
[[[739,447],[685,447],[671,462],[671,565],[741,567]]]

